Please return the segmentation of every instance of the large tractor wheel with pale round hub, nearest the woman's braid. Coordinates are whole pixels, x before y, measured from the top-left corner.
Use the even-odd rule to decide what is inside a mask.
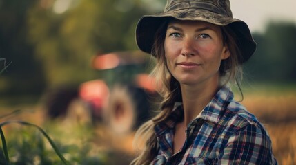
[[[150,94],[145,89],[132,85],[115,85],[105,112],[110,130],[117,134],[135,131],[152,116]]]

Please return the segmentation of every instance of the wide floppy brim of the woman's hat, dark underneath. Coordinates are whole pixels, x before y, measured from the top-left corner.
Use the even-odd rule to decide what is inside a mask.
[[[250,56],[256,50],[256,43],[250,33],[248,25],[239,19],[225,17],[220,14],[208,12],[206,10],[178,10],[177,12],[159,13],[153,15],[144,15],[137,23],[136,41],[140,50],[151,54],[152,46],[155,40],[155,33],[159,25],[168,18],[191,21],[205,21],[220,26],[228,26],[235,32],[237,37],[237,46],[241,51],[239,63],[248,61]]]

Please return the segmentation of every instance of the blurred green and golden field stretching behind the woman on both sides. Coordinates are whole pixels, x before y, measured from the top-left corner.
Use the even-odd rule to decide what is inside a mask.
[[[256,86],[243,91],[242,104],[266,126],[273,141],[273,153],[279,164],[296,164],[295,87]],[[236,96],[237,100],[240,100],[238,93]],[[83,114],[68,115],[66,119],[50,121],[47,120],[41,104],[0,107],[0,114],[3,116],[15,109],[22,111],[0,118],[1,122],[23,120],[41,126],[70,164],[129,164],[134,156],[134,133],[115,135],[103,123],[90,126],[89,116]],[[3,131],[10,162],[61,164],[55,151],[37,129],[9,124],[3,126]],[[1,155],[3,154],[0,153],[0,157]]]

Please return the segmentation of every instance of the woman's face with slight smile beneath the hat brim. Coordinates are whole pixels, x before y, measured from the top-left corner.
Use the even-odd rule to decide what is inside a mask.
[[[230,56],[221,28],[204,21],[168,23],[164,51],[170,73],[185,85],[219,80],[221,60]]]

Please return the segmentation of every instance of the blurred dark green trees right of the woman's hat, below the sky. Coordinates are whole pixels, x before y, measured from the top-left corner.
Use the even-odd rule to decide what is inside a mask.
[[[295,82],[295,23],[269,23],[264,34],[255,33],[253,36],[257,50],[246,63],[248,77],[255,81]]]

